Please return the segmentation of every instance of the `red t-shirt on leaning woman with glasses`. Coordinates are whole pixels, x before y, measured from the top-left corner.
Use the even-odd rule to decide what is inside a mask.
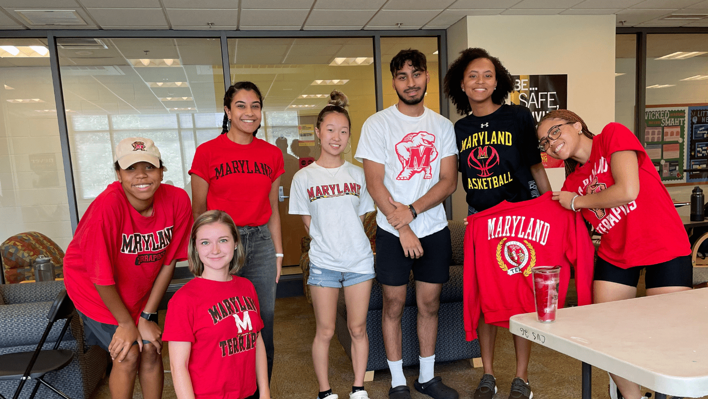
[[[673,206],[651,159],[634,134],[612,122],[593,139],[590,158],[566,178],[564,191],[592,194],[615,184],[612,154],[635,151],[639,161],[639,195],[627,205],[581,209],[583,217],[602,234],[598,256],[622,269],[656,265],[690,255],[683,222]]]

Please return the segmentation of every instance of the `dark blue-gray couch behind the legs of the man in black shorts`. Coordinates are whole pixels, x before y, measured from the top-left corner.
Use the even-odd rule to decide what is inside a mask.
[[[435,345],[435,362],[450,362],[459,359],[480,357],[479,342],[467,342],[464,339],[464,323],[462,320],[462,264],[464,252],[464,224],[461,221],[447,221],[452,238],[452,265],[450,266],[450,281],[443,284],[440,294],[440,312],[438,313],[438,342]],[[383,296],[381,284],[374,281],[369,301],[369,313],[366,318],[366,330],[369,335],[369,362],[367,371],[388,368],[384,340],[381,331],[381,315]],[[403,335],[403,365],[418,364],[418,333],[416,332],[416,287],[413,274],[408,283],[406,307],[404,308],[402,325]],[[337,304],[336,335],[351,357],[351,338],[346,322],[346,306],[344,291],[340,290]]]

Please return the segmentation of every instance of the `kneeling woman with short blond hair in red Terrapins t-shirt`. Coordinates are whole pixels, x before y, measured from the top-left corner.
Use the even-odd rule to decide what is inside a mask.
[[[189,241],[189,270],[196,276],[167,306],[164,340],[178,399],[270,399],[268,362],[256,289],[235,274],[244,248],[231,217],[208,211]]]

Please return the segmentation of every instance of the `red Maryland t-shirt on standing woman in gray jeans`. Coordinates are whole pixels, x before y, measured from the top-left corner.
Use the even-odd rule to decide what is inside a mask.
[[[197,147],[189,173],[209,183],[207,209],[220,209],[236,226],[268,223],[270,187],[285,172],[278,147],[253,137],[236,144],[226,134]]]

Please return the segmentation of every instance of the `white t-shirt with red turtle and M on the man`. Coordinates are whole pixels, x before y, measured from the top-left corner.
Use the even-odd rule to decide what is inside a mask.
[[[412,204],[440,180],[440,160],[457,155],[455,130],[447,118],[426,108],[423,115],[410,117],[396,105],[376,112],[364,122],[355,158],[384,165],[384,186],[394,201]],[[376,223],[396,236],[383,212]],[[442,204],[418,213],[411,229],[418,238],[445,229],[447,216]]]

